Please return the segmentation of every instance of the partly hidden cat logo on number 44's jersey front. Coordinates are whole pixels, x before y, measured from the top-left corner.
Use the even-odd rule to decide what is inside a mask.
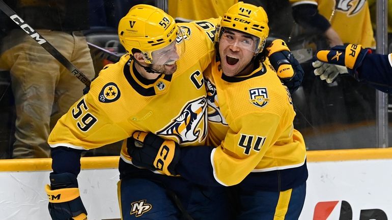
[[[208,107],[208,120],[223,125],[228,125],[226,119],[220,112],[218,96],[216,87],[208,79],[207,81],[207,107]]]

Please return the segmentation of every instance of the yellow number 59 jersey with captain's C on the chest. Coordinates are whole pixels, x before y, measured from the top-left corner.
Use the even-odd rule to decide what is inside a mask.
[[[201,145],[207,135],[203,71],[214,57],[213,36],[219,19],[181,24],[185,51],[173,75],[146,80],[129,55],[106,66],[87,95],[61,117],[49,135],[51,147],[93,149],[127,139],[135,131],[152,132],[180,145]],[[131,163],[125,145],[121,158]]]

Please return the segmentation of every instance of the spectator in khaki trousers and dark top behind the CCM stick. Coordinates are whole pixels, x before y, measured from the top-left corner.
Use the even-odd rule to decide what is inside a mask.
[[[94,68],[86,38],[88,1],[5,1],[88,78]],[[11,20],[9,20],[11,21]],[[16,106],[13,158],[48,158],[47,137],[85,87],[14,23],[2,40],[0,57],[10,71]]]

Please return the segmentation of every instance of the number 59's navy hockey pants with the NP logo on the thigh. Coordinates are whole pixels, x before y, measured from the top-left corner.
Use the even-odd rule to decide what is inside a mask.
[[[175,196],[194,220],[230,220],[233,214],[227,190],[192,184],[177,177],[164,183],[143,178],[124,178],[118,183],[123,220],[186,219],[173,199]]]

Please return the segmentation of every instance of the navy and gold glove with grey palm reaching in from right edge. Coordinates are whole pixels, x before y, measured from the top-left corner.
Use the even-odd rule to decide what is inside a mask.
[[[323,67],[319,62],[313,62],[315,69],[314,73],[316,76],[320,76],[321,79],[326,79],[328,83],[333,82],[339,74],[348,73],[355,79],[358,78],[358,67],[362,65],[362,61],[366,54],[372,53],[372,49],[363,48],[359,44],[349,44],[334,46],[330,50],[319,50],[316,54],[317,59],[325,62],[329,65],[339,65],[342,67]],[[347,67],[347,70],[346,68]],[[322,68],[322,69],[320,69]]]

